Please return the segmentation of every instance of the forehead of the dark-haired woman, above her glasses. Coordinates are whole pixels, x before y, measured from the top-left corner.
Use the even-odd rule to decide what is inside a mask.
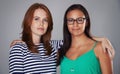
[[[83,13],[82,11],[78,10],[78,9],[76,9],[76,10],[71,10],[71,11],[69,11],[68,14],[67,14],[67,18],[83,17],[83,16],[85,16],[84,13]]]

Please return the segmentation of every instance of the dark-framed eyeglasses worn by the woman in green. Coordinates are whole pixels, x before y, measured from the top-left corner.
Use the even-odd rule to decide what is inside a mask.
[[[67,19],[67,24],[68,25],[73,25],[75,21],[77,22],[77,24],[83,24],[85,19],[86,18],[83,18],[83,17],[79,17],[79,18],[76,18],[76,19],[69,18],[69,19]]]

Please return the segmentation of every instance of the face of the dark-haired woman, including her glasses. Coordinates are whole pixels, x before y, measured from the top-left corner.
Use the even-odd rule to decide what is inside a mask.
[[[80,10],[72,10],[68,12],[67,26],[72,36],[76,36],[76,35],[78,36],[78,35],[84,34],[85,23],[86,23],[86,20],[84,18],[85,18],[85,15]]]

